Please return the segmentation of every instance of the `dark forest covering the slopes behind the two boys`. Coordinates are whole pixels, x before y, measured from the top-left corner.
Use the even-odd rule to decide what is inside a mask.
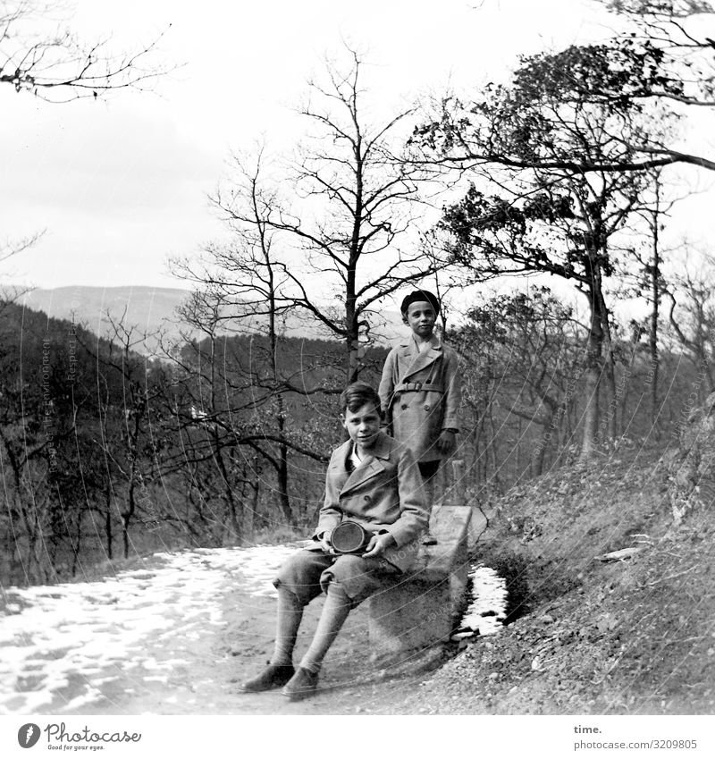
[[[711,287],[687,292],[653,363],[643,329],[614,329],[616,393],[602,384],[592,463],[659,450],[713,391]],[[615,325],[614,325],[615,326]],[[189,343],[172,358],[5,304],[0,443],[4,583],[83,576],[101,561],[185,546],[307,536],[341,442],[338,342],[260,333]],[[585,335],[548,291],[488,299],[447,340],[464,423],[449,502],[484,506],[583,455]],[[360,376],[376,383],[386,349]],[[622,451],[623,452],[623,451]],[[626,454],[627,455],[627,454]]]

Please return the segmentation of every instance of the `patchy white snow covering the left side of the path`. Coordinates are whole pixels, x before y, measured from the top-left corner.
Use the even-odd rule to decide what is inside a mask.
[[[71,713],[191,664],[236,585],[271,596],[296,544],[157,553],[101,582],[11,587],[0,611],[0,714]],[[157,654],[159,652],[159,654]]]

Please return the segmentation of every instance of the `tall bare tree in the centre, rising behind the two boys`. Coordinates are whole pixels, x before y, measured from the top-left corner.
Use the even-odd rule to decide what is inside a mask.
[[[348,65],[326,63],[324,82],[310,82],[300,108],[309,138],[290,171],[273,179],[276,189],[260,174],[247,187],[240,173],[214,203],[234,229],[273,235],[282,279],[273,306],[290,308],[341,340],[350,382],[363,368],[378,304],[433,274],[436,265],[408,234],[424,173],[392,149],[411,112],[368,122],[365,63],[354,51],[348,55]],[[252,202],[257,195],[260,207]]]

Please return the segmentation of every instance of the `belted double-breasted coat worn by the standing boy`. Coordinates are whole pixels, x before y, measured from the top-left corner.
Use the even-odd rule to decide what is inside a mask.
[[[408,338],[388,353],[379,394],[388,433],[420,463],[442,459],[434,443],[442,430],[459,430],[457,354],[436,335],[422,352]]]

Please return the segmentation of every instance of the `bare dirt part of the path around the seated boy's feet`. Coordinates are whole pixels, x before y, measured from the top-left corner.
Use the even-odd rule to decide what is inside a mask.
[[[308,607],[297,657],[307,648],[321,607],[321,601]],[[420,679],[385,679],[386,673],[370,664],[363,607],[350,615],[333,645],[315,698],[291,704],[280,691],[242,694],[240,682],[263,667],[273,648],[275,601],[232,592],[224,601],[224,618],[226,623],[217,633],[206,630],[190,646],[181,634],[147,645],[145,656],[131,674],[104,687],[96,703],[64,713],[390,713]]]

